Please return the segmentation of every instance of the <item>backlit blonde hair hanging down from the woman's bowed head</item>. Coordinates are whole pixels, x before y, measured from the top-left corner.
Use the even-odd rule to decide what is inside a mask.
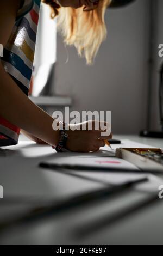
[[[43,2],[51,1],[43,0]],[[111,0],[99,0],[98,7],[92,11],[83,11],[83,7],[74,9],[51,6],[52,17],[59,13],[58,30],[61,31],[64,41],[67,45],[74,45],[79,56],[86,58],[87,64],[92,64],[99,46],[106,38],[104,15],[110,3]]]

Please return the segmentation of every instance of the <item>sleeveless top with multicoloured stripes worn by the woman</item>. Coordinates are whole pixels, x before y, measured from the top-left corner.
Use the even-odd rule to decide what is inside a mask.
[[[22,1],[1,58],[5,71],[26,95],[32,76],[40,2],[41,0]],[[0,116],[0,146],[17,144],[19,134],[19,127]]]

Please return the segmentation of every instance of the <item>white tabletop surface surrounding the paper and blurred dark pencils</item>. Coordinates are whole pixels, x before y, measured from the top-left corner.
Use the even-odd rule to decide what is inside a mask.
[[[163,148],[161,139],[124,135],[115,138],[131,139],[135,145],[140,142]],[[4,201],[0,200],[0,221],[3,216],[18,216],[18,212],[22,214],[29,206],[37,205],[39,200],[48,203],[51,199],[65,197],[65,194],[74,196],[103,187],[100,182],[40,169],[40,161],[55,155],[53,149],[24,141],[23,137],[18,145],[0,150],[0,155],[0,184],[2,182],[1,185],[4,185]],[[13,198],[19,196],[20,202],[11,200],[5,203],[5,194],[8,195],[8,192],[12,192]],[[142,187],[140,190],[134,188],[116,197],[80,206],[60,215],[9,227],[0,233],[0,244],[162,244],[163,201],[156,200],[137,209],[135,206],[141,202],[145,204],[151,196],[152,192],[143,191]],[[116,216],[117,213],[119,216]]]

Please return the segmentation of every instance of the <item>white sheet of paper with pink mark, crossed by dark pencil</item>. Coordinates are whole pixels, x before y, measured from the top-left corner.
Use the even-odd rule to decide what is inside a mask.
[[[127,172],[127,170],[139,170],[134,164],[116,157],[61,157],[46,161],[49,164],[70,164],[85,166],[85,170],[63,170],[69,175],[78,176],[83,179],[102,182],[108,185],[121,185],[129,181],[147,177],[146,174]],[[86,167],[106,167],[109,171],[86,170]],[[111,171],[112,169],[112,171]],[[114,169],[126,169],[124,172],[116,172]]]

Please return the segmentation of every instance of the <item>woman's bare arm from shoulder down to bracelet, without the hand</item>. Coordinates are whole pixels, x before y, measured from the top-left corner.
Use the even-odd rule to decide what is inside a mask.
[[[0,3],[0,44],[5,46],[14,26],[20,0]],[[52,129],[53,118],[37,107],[18,88],[0,63],[0,115],[51,145],[59,140],[59,131]]]

